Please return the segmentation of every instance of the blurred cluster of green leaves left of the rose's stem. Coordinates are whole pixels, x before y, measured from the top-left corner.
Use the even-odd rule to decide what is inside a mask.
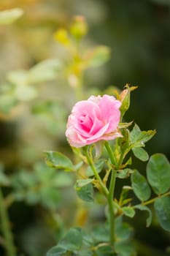
[[[15,200],[25,200],[30,205],[42,204],[46,208],[56,208],[61,202],[61,191],[73,184],[72,176],[67,173],[57,173],[55,169],[39,163],[34,166],[34,172],[20,170],[11,177]]]

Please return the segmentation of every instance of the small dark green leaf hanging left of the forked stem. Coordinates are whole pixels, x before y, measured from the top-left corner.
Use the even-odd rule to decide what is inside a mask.
[[[77,195],[86,202],[93,202],[93,185],[87,184],[77,190]]]

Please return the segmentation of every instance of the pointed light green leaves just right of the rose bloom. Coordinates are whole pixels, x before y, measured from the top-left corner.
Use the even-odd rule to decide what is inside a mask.
[[[141,131],[137,124],[130,132],[130,141],[133,147],[142,147],[144,143],[150,140],[155,135],[155,130]]]

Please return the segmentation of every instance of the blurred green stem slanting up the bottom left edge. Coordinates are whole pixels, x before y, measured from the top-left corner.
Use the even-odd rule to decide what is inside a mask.
[[[1,216],[1,230],[4,235],[5,247],[8,256],[16,256],[15,246],[13,244],[12,233],[9,225],[9,218],[6,207],[4,206],[4,197],[0,188],[0,216]]]

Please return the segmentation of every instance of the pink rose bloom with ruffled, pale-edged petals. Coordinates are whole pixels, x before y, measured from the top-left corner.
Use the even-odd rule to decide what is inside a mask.
[[[117,127],[121,102],[113,96],[91,96],[77,102],[69,116],[66,137],[71,146],[80,148],[98,140],[113,140],[122,135]]]

